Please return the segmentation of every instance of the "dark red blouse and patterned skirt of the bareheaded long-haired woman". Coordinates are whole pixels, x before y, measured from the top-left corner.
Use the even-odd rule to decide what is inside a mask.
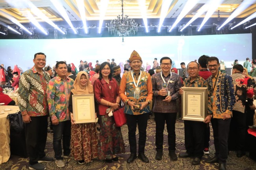
[[[113,116],[109,117],[106,109],[109,106],[100,104],[101,99],[115,103],[119,96],[119,86],[115,79],[109,80],[109,84],[104,79],[97,79],[93,84],[95,99],[98,103],[98,112],[100,115],[98,124],[100,125],[99,152],[98,158],[113,159],[114,154],[125,153],[124,140],[120,127],[115,126]]]

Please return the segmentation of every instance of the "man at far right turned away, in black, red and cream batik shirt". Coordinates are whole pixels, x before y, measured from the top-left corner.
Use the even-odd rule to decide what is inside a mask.
[[[247,131],[245,113],[246,100],[248,101],[250,109],[254,109],[252,79],[242,73],[243,66],[241,64],[233,66],[231,77],[234,84],[236,103],[232,110],[228,150],[237,150],[237,157],[245,155],[245,135]]]

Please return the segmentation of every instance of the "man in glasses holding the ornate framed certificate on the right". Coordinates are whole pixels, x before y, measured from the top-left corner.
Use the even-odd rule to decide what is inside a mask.
[[[202,77],[198,75],[199,72],[199,64],[195,61],[189,62],[187,64],[187,73],[189,74],[189,78],[184,80],[184,87],[190,88],[208,88],[208,83]],[[192,91],[192,90],[191,90]],[[180,88],[180,94],[183,94],[182,88]],[[208,95],[209,96],[209,95]],[[207,100],[208,98],[206,98]],[[187,104],[189,102],[193,102],[188,99]],[[206,102],[206,101],[202,101]],[[205,105],[198,106],[199,108],[204,107]],[[184,106],[183,106],[184,107]],[[184,120],[184,131],[185,131],[185,147],[186,153],[179,154],[179,157],[194,157],[192,161],[192,165],[198,165],[200,163],[201,157],[204,155],[204,132],[206,130],[206,124],[211,121],[211,107],[210,103],[208,104],[208,115],[203,115],[204,122],[194,120]]]

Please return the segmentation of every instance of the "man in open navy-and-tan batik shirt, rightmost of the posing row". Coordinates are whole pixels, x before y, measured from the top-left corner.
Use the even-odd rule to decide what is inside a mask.
[[[230,118],[235,103],[234,85],[232,77],[219,71],[220,64],[217,57],[208,58],[207,67],[212,73],[206,81],[208,82],[209,100],[213,111],[211,125],[213,128],[215,156],[206,161],[206,163],[219,162],[219,170],[226,170]]]

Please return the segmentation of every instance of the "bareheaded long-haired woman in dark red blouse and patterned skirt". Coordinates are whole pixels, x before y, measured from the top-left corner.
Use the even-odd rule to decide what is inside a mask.
[[[117,81],[112,78],[110,64],[103,62],[99,72],[100,76],[93,84],[95,100],[98,103],[98,124],[100,124],[98,157],[100,160],[105,159],[111,163],[112,160],[119,159],[115,154],[125,152],[121,128],[115,127],[113,116],[109,116],[111,111],[118,109],[121,97],[119,97]]]

